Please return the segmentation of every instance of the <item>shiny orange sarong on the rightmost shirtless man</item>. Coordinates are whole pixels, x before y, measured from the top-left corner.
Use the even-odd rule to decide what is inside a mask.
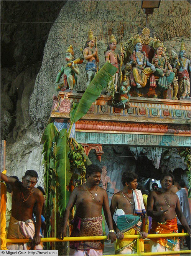
[[[177,231],[176,218],[167,220],[166,222],[160,223],[152,220],[152,228],[150,234],[169,234],[178,233]],[[151,238],[155,243],[159,243],[171,251],[179,244],[178,237],[175,238]]]

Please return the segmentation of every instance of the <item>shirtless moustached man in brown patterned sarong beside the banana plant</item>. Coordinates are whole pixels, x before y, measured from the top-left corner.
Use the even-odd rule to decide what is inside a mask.
[[[72,220],[73,236],[102,236],[102,207],[105,220],[109,227],[108,239],[113,243],[116,239],[113,230],[112,216],[109,210],[109,201],[105,189],[99,187],[102,169],[91,164],[86,169],[87,182],[74,188],[66,206],[63,227],[59,238],[66,236],[67,221],[70,211],[76,204],[76,215]],[[102,255],[104,242],[102,241],[74,241],[70,242],[70,255]]]

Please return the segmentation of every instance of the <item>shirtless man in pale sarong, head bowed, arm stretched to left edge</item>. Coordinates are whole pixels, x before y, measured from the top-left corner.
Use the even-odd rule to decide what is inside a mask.
[[[40,241],[41,211],[43,193],[35,187],[38,174],[34,170],[25,172],[22,182],[1,173],[1,179],[12,185],[12,215],[8,227],[7,238],[32,239],[32,243],[8,243],[9,250],[43,249]],[[35,210],[36,222],[33,218]]]

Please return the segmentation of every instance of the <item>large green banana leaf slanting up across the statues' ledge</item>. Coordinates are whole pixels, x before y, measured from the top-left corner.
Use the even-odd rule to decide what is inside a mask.
[[[86,115],[92,103],[99,97],[101,91],[107,86],[108,82],[112,80],[112,75],[114,75],[116,72],[117,68],[109,62],[106,62],[87,87],[80,102],[78,104],[73,104],[73,107],[70,110],[71,125],[69,134],[72,125],[81,117]]]

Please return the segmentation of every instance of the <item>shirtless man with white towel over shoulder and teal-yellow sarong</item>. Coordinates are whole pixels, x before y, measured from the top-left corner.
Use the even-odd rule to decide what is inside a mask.
[[[123,172],[123,189],[112,197],[110,211],[116,231],[115,254],[137,253],[136,239],[125,239],[124,235],[140,234],[147,237],[145,232],[145,206],[143,196],[137,188],[137,174]],[[114,214],[115,213],[115,214]],[[141,239],[140,250],[144,252],[144,242]]]

